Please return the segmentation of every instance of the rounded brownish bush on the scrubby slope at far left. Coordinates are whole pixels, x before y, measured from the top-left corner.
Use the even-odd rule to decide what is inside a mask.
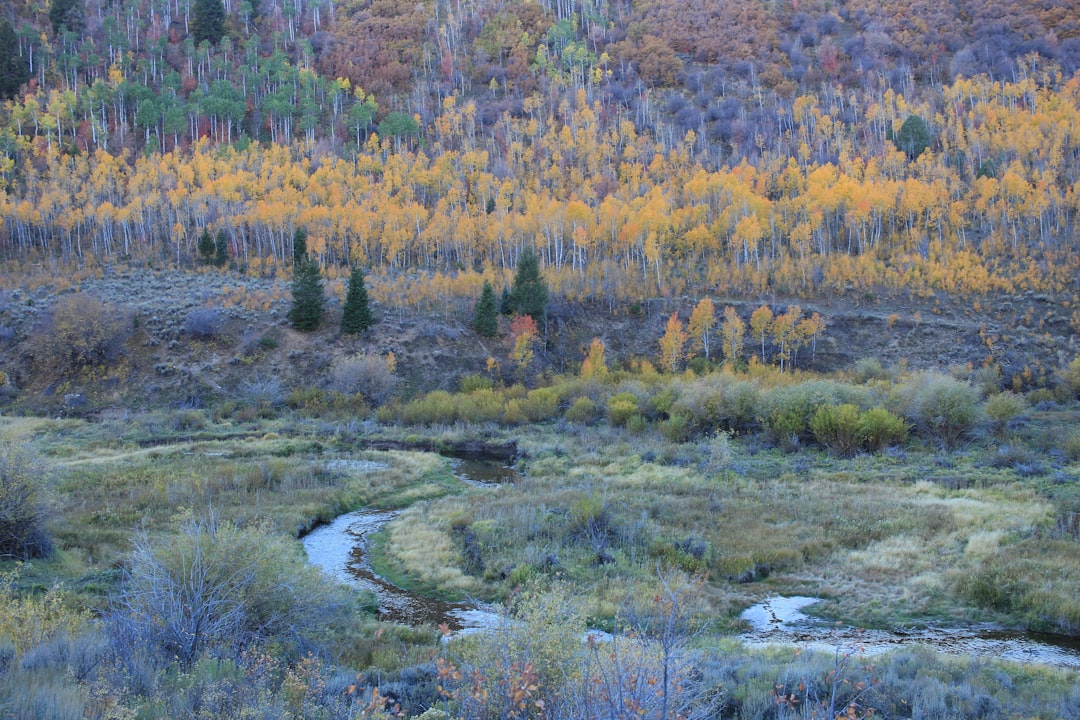
[[[39,365],[77,370],[116,359],[131,337],[130,314],[92,295],[58,300],[39,326],[31,352]]]

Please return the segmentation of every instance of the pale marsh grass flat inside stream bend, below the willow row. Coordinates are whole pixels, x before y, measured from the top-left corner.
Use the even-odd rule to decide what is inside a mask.
[[[462,578],[475,579],[445,570],[463,562],[457,525],[475,536],[484,594],[505,596],[536,578],[567,580],[582,588],[590,614],[612,612],[620,593],[649,593],[659,562],[707,574],[714,612],[766,594],[811,592],[827,599],[825,614],[856,625],[993,617],[1071,627],[1076,545],[1042,538],[1058,508],[1014,470],[987,467],[978,452],[940,463],[913,450],[850,459],[802,451],[793,463],[729,439],[717,464],[707,441],[679,450],[654,436],[597,430],[594,437],[572,427],[531,433],[523,438],[521,481],[403,514],[387,557],[403,576],[458,593]],[[603,508],[603,522],[581,521],[586,505],[593,520]],[[1028,546],[1027,555],[1044,557],[1024,571],[1032,587],[1012,615],[958,580],[987,555],[1008,565]],[[433,547],[445,548],[437,559]],[[1036,592],[1036,573],[1058,566],[1062,582]]]

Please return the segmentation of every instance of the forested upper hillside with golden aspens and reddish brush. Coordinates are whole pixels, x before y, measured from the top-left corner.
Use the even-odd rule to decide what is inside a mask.
[[[266,273],[306,228],[324,266],[376,273],[490,273],[531,245],[569,298],[1072,295],[1078,16],[14,2],[3,253],[188,266],[210,229]]]

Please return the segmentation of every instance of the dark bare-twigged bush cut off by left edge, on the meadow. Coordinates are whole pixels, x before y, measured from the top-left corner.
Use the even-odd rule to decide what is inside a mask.
[[[0,445],[0,560],[28,560],[52,552],[43,527],[40,467],[41,461],[28,450]]]

